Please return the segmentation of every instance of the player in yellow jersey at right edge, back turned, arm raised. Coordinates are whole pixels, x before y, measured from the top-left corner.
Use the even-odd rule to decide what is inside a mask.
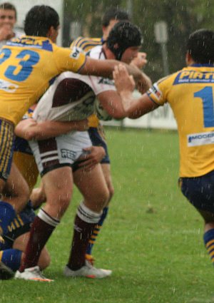
[[[180,143],[180,188],[205,221],[204,242],[214,262],[214,31],[200,29],[188,39],[187,67],[134,99],[134,81],[120,66],[114,72],[118,93],[130,118],[165,102],[173,109]]]

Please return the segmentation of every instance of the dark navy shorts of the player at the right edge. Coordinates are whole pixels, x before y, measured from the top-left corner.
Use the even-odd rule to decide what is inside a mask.
[[[200,177],[180,178],[179,181],[183,195],[195,208],[214,213],[214,171]]]

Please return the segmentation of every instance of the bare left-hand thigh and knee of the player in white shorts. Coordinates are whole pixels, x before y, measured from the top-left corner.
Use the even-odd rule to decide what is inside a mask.
[[[42,182],[46,195],[46,204],[43,209],[49,215],[60,219],[66,211],[72,196],[72,170],[69,166],[51,170],[43,176]]]

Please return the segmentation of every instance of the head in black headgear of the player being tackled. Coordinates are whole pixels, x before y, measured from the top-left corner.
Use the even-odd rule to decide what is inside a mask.
[[[106,41],[106,46],[116,60],[130,63],[138,56],[142,36],[138,26],[128,21],[121,21],[113,26]]]

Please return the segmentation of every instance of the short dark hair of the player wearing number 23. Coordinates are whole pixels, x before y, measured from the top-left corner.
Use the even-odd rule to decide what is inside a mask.
[[[57,29],[59,18],[57,12],[50,6],[37,5],[26,14],[24,31],[29,36],[46,37],[51,26]]]

